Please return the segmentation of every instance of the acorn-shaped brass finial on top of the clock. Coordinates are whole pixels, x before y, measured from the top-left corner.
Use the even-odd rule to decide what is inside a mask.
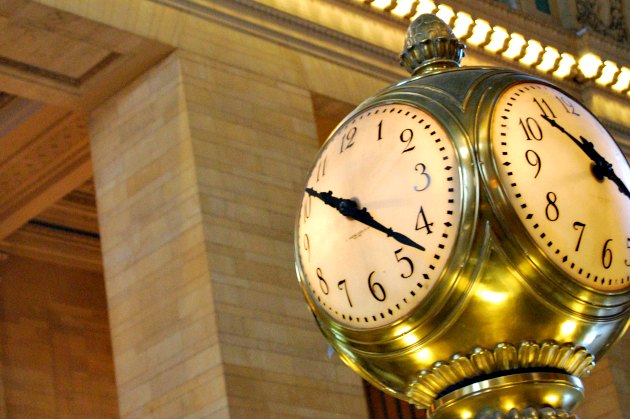
[[[400,65],[412,75],[459,67],[465,48],[442,19],[422,14],[407,29]]]

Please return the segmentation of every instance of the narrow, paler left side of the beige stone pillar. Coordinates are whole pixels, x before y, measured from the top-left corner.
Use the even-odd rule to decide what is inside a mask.
[[[172,55],[90,118],[122,417],[228,417],[184,85]]]

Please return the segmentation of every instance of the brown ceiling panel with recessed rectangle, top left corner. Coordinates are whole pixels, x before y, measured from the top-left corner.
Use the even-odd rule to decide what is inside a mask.
[[[30,0],[0,2],[0,86],[87,111],[172,48]]]

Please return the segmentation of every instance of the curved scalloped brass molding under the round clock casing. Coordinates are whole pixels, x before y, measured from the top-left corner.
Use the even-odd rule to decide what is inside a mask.
[[[409,385],[406,393],[415,404],[429,407],[448,387],[479,376],[523,368],[553,368],[581,378],[588,375],[594,366],[594,356],[572,343],[499,343],[494,349],[478,347],[468,355],[455,354],[449,361],[436,362],[429,370],[418,373],[418,378]]]

